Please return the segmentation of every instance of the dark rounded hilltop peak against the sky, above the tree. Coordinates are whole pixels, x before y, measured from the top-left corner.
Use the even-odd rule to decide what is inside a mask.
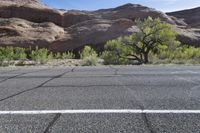
[[[163,21],[174,24],[174,21],[165,13],[137,4],[126,4],[117,8],[98,10],[94,12],[94,15],[109,20],[126,18],[133,21],[151,16],[153,18],[159,17]]]

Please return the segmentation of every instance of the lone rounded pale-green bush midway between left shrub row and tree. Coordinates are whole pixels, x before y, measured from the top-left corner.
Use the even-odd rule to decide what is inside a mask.
[[[97,56],[96,51],[90,46],[85,46],[80,53],[80,58],[83,59],[83,65],[85,66],[96,66],[98,64]]]

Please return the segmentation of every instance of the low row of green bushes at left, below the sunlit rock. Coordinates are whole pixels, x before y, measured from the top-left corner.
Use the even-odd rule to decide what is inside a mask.
[[[34,64],[45,64],[52,59],[74,59],[73,52],[53,54],[46,48],[35,49],[19,47],[0,47],[0,66],[24,65],[25,60],[34,61]],[[15,62],[16,61],[16,62]]]

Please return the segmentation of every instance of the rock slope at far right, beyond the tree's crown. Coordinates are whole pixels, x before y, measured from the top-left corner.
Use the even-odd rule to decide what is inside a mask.
[[[182,43],[200,46],[200,7],[167,13],[172,19],[179,21],[184,26],[177,26],[175,30],[179,33],[179,40]],[[178,24],[179,24],[178,23]]]

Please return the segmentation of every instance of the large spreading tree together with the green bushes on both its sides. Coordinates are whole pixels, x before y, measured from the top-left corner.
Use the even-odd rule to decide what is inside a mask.
[[[180,44],[170,24],[151,17],[136,23],[138,33],[106,43],[104,64],[200,63],[200,48]]]

